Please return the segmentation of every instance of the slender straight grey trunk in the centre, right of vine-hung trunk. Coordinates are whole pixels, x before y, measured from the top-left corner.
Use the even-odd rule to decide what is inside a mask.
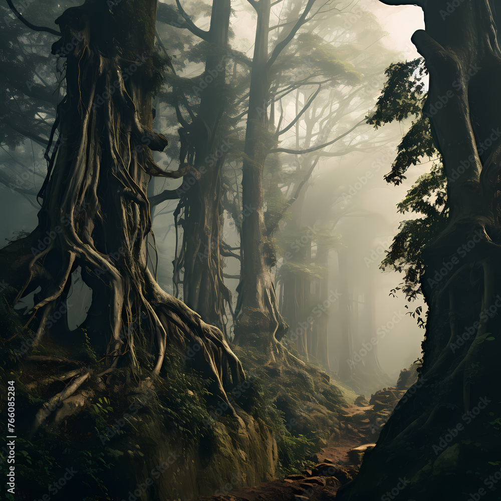
[[[264,219],[263,165],[273,137],[268,131],[268,34],[270,0],[257,7],[258,23],[254,47],[250,94],[242,165],[241,283],[238,290],[235,342],[259,349],[276,349],[287,324],[277,305],[271,267],[275,252]]]

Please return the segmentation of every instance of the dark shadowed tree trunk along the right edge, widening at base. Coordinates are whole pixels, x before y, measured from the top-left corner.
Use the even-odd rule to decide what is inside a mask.
[[[338,497],[497,499],[501,5],[384,3],[424,10],[426,31],[412,40],[430,72],[423,112],[443,158],[449,215],[423,249],[429,315],[419,379]]]

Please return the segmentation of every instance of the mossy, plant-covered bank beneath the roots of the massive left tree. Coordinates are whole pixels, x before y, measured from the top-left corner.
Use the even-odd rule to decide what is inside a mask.
[[[343,395],[310,365],[267,363],[264,355],[236,347],[247,378],[228,381],[227,393],[245,423],[242,430],[214,399],[208,380],[188,370],[172,346],[161,376],[140,383],[127,367],[96,377],[98,357],[85,336],[79,346],[47,339],[33,350],[27,343],[33,333],[21,329],[15,312],[2,323],[4,332],[16,334],[3,350],[0,387],[4,412],[5,382],[15,381],[17,490],[7,499],[57,493],[60,499],[120,501],[131,493],[148,500],[220,493],[228,484],[298,472],[322,439],[339,433]],[[95,369],[89,384],[55,407],[32,437],[37,411],[72,379],[57,377],[84,367]],[[0,474],[6,467],[4,459]]]

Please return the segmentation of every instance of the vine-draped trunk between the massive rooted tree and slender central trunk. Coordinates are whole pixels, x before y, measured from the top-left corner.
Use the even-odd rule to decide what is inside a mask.
[[[198,114],[184,131],[189,147],[194,149],[193,165],[197,175],[181,196],[184,207],[182,250],[174,262],[174,282],[184,269],[183,301],[202,319],[226,334],[226,304],[231,308],[231,293],[222,278],[219,254],[222,236],[221,167],[229,143],[219,121],[224,112],[226,56],[230,0],[214,0],[207,33],[210,55],[201,79]],[[192,185],[191,185],[192,184]]]

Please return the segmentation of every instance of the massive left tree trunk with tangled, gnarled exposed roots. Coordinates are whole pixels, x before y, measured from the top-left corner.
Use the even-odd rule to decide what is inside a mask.
[[[36,333],[34,345],[56,342],[77,351],[88,337],[104,360],[93,367],[98,371],[125,366],[138,377],[155,377],[168,343],[196,346],[191,362],[229,404],[226,366],[236,381],[240,363],[222,333],[162,291],[146,265],[148,181],[179,177],[159,169],[150,151],[166,145],[151,128],[151,95],[162,78],[153,63],[155,14],[156,0],[111,6],[99,0],[58,18],[63,36],[52,50],[67,58],[67,94],[57,120],[62,140],[40,192],[37,228],[0,252],[9,285],[4,299],[12,307],[40,287],[27,324]],[[81,35],[76,44],[75,32]],[[66,322],[54,319],[59,313],[66,320],[62,307],[77,268],[92,289],[92,304],[80,328],[68,332],[60,328]],[[141,351],[155,355],[152,366],[138,357]]]

